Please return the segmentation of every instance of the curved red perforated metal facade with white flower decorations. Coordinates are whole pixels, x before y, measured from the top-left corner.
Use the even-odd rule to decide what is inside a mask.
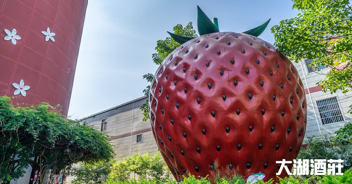
[[[0,96],[14,104],[60,104],[67,115],[87,0],[0,0]],[[45,40],[50,28],[55,42]],[[17,30],[14,45],[5,29]],[[14,95],[23,80],[26,96]]]

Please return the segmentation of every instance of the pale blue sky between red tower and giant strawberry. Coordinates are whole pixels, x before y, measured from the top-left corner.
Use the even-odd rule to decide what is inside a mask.
[[[290,0],[88,0],[68,115],[80,119],[142,97],[142,76],[158,67],[151,58],[156,41],[179,23],[196,29],[197,5],[218,18],[221,32],[240,33],[271,18],[260,38],[272,44],[270,28],[299,13]]]

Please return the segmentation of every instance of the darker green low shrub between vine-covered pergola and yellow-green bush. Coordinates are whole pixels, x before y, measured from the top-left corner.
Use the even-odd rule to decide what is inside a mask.
[[[115,162],[114,159],[106,162],[99,161],[96,163],[81,163],[77,167],[72,168],[71,175],[76,178],[71,184],[100,184],[104,177],[111,171],[111,167]]]

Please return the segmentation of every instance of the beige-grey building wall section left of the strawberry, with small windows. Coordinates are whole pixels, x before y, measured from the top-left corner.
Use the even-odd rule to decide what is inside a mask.
[[[101,131],[112,137],[112,144],[117,160],[122,160],[133,153],[155,154],[158,146],[152,134],[149,121],[142,121],[143,111],[139,109],[147,97],[118,105],[100,113],[93,114],[78,121],[94,124]]]

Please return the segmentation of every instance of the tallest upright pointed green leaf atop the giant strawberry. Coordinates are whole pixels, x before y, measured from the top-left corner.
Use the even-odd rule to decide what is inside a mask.
[[[208,16],[198,8],[198,18],[197,18],[197,26],[198,26],[198,33],[199,35],[205,35],[210,33],[219,32],[218,28],[213,24],[213,22],[208,18]]]

